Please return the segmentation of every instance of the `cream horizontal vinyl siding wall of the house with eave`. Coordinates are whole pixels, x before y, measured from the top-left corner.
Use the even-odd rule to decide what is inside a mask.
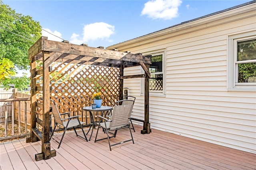
[[[227,91],[228,36],[256,30],[252,8],[255,4],[109,47],[142,54],[165,49],[166,94],[150,93],[152,129],[256,153],[256,88]],[[136,97],[132,117],[144,120],[140,85],[141,79],[124,80]]]

